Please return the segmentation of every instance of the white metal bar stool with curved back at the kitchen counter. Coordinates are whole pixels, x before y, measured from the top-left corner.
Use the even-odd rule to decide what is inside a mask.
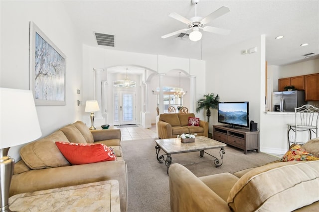
[[[318,137],[318,117],[319,117],[319,108],[312,105],[304,105],[301,107],[295,108],[295,123],[288,124],[288,148],[291,143],[293,144],[304,144],[305,142],[297,142],[297,132],[309,131],[309,137],[312,139],[312,133],[316,134]],[[293,130],[295,132],[295,139],[291,141],[289,138],[289,132]],[[309,139],[309,140],[310,140]]]

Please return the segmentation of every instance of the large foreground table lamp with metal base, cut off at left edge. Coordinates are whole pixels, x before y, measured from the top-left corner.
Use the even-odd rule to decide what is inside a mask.
[[[0,88],[0,212],[10,211],[8,200],[14,159],[8,156],[9,148],[41,135],[32,92]]]

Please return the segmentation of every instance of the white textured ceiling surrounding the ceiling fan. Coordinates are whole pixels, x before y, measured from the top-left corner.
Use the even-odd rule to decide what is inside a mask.
[[[64,0],[67,13],[84,44],[98,46],[94,32],[115,35],[120,51],[207,59],[211,53],[266,35],[266,60],[287,65],[305,60],[304,54],[319,53],[319,0],[200,0],[197,16],[205,17],[221,6],[230,12],[206,24],[230,29],[227,36],[203,32],[202,40],[162,39],[186,24],[168,16],[195,14],[191,0]],[[276,40],[278,35],[284,35]],[[309,43],[301,47],[300,44]],[[312,57],[311,59],[314,59]],[[123,68],[123,67],[122,67]]]

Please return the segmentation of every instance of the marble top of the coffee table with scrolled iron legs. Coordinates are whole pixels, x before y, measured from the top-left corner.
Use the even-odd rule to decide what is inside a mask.
[[[167,154],[195,152],[226,146],[225,143],[213,140],[205,136],[196,136],[195,142],[191,143],[182,143],[180,142],[180,138],[157,139],[155,140],[155,142]]]

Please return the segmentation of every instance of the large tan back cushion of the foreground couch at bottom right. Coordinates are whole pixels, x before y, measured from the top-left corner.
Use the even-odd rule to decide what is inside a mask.
[[[280,162],[257,167],[231,189],[235,212],[294,211],[319,201],[319,161]]]

